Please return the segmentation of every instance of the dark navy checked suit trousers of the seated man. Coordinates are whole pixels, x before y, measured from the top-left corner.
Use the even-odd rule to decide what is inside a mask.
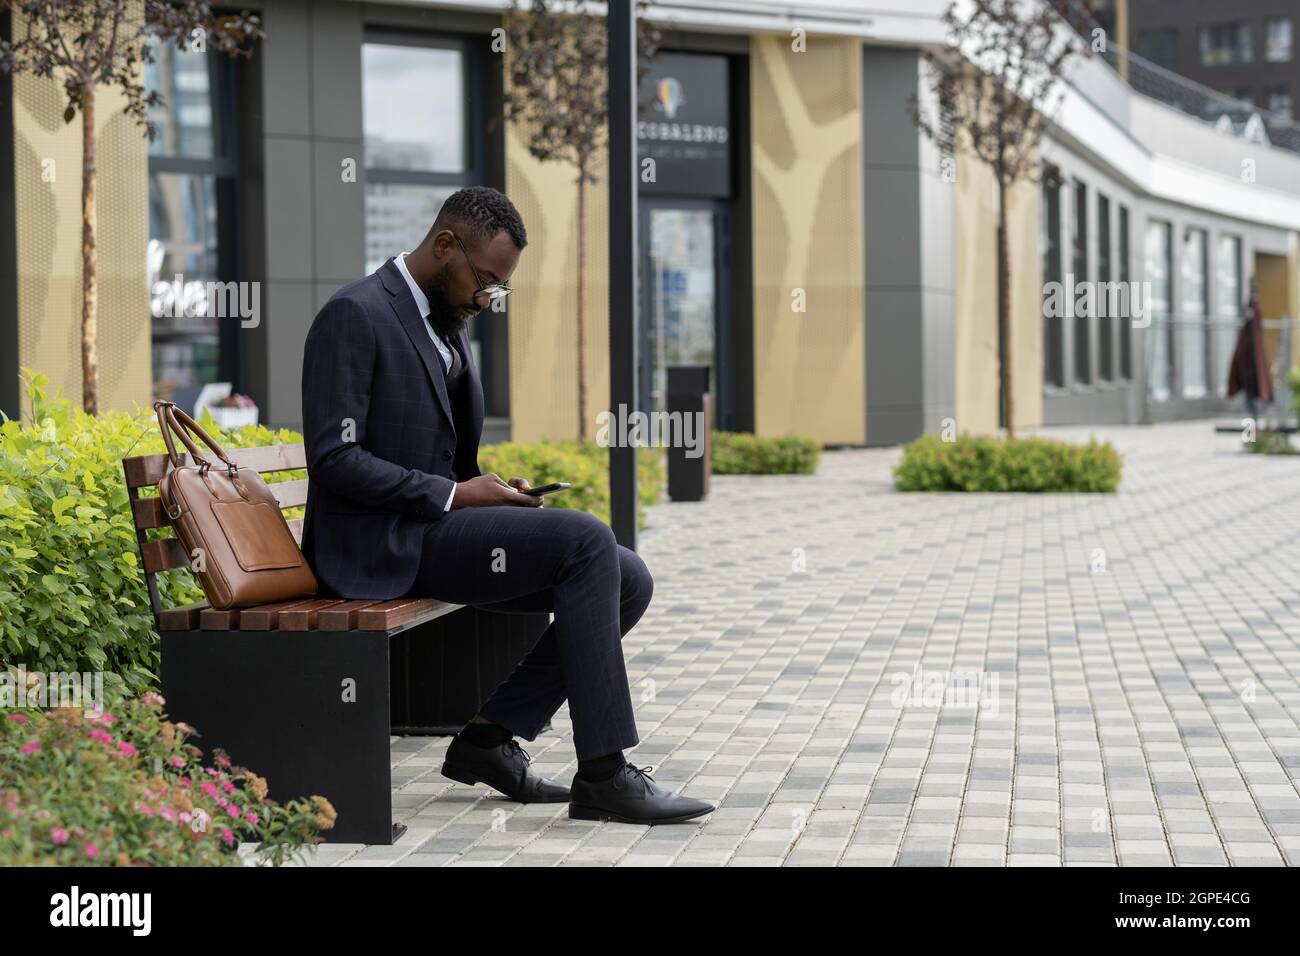
[[[567,698],[578,760],[638,743],[623,636],[653,592],[645,562],[599,518],[517,505],[456,509],[430,522],[411,589],[486,610],[554,614],[478,713],[533,740]]]

